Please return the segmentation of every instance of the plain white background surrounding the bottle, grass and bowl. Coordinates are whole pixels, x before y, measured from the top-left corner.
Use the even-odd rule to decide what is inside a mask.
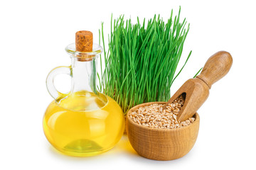
[[[46,76],[69,65],[65,46],[75,32],[91,30],[98,40],[100,23],[110,33],[110,17],[124,14],[136,22],[174,8],[191,23],[181,67],[171,94],[219,50],[233,56],[233,67],[210,89],[199,109],[196,145],[185,157],[158,162],[140,157],[123,137],[114,149],[97,157],[60,154],[43,135],[42,119],[53,100]],[[255,4],[253,1],[1,1],[0,169],[253,169],[255,168]],[[69,79],[57,87],[67,90]],[[67,85],[68,84],[68,85]]]

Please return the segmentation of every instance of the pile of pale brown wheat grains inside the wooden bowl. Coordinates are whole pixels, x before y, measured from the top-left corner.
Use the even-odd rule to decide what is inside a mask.
[[[189,118],[183,122],[176,119],[184,101],[184,97],[181,95],[176,98],[173,103],[168,104],[166,109],[163,109],[164,105],[152,104],[138,108],[136,111],[132,112],[129,117],[134,123],[149,128],[175,129],[185,127],[191,125],[191,123],[195,121],[195,118]]]

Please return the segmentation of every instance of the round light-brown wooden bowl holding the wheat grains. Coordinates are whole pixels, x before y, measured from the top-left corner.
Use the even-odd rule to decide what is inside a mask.
[[[153,103],[143,103],[131,108],[127,113],[126,125],[129,142],[134,150],[148,159],[173,160],[183,157],[192,149],[196,142],[199,130],[199,115],[193,115],[195,122],[178,129],[153,129],[134,123],[129,114],[137,108],[149,106]]]

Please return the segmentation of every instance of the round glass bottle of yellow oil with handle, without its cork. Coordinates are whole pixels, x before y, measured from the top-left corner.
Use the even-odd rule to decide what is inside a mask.
[[[71,57],[70,67],[56,67],[46,79],[55,99],[46,109],[43,130],[53,147],[64,154],[87,157],[114,147],[124,132],[124,115],[116,101],[97,91],[97,56],[100,45],[92,52],[76,52],[75,44],[65,49]],[[69,74],[71,89],[62,94],[53,84],[58,74]]]

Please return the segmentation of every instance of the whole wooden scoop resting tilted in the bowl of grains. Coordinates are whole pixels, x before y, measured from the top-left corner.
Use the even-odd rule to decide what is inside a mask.
[[[228,73],[233,63],[229,52],[220,51],[212,55],[203,67],[203,71],[195,79],[188,79],[178,91],[170,98],[168,103],[172,103],[178,96],[185,97],[185,103],[177,115],[178,121],[191,118],[198,108],[200,108],[209,96],[212,84],[223,78]]]

